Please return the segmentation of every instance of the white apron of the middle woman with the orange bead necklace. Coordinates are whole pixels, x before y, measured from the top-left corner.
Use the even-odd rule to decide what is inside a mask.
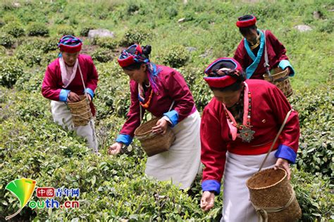
[[[202,170],[199,127],[201,117],[196,111],[176,124],[172,130],[175,141],[167,152],[147,158],[145,174],[159,181],[172,181],[181,189],[190,188]]]

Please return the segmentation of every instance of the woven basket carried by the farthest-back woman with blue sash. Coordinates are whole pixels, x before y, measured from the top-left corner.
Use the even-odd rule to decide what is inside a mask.
[[[276,85],[280,91],[283,91],[285,97],[289,97],[293,93],[287,72],[288,69],[282,70],[280,67],[277,67],[273,70],[274,74],[272,74],[271,77],[268,73],[263,75],[264,80],[270,81],[272,84]]]

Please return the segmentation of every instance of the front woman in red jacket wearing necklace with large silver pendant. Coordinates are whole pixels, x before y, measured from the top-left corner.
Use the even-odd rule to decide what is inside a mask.
[[[205,70],[214,93],[202,115],[201,207],[214,206],[223,178],[222,221],[257,221],[246,180],[259,169],[285,116],[292,109],[283,93],[268,81],[247,79],[233,58],[219,58]],[[295,163],[299,120],[292,110],[264,168],[282,167],[290,178]]]

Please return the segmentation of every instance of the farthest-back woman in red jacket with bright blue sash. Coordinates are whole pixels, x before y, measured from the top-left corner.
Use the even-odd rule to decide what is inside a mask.
[[[269,30],[258,30],[254,15],[244,15],[238,18],[237,27],[239,27],[244,39],[237,46],[233,58],[245,70],[246,79],[264,79],[266,51],[268,70],[274,72],[272,74],[275,74],[276,70],[285,69],[289,70],[290,77],[295,74],[295,70],[292,68],[287,55],[285,55],[286,49],[283,44]]]

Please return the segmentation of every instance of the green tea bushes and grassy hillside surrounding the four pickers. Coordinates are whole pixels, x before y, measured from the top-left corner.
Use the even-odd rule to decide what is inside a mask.
[[[146,156],[136,140],[122,155],[106,155],[130,105],[128,79],[114,58],[134,42],[151,44],[151,60],[179,70],[202,110],[212,97],[202,71],[215,58],[233,56],[241,40],[235,20],[246,13],[283,42],[297,72],[290,102],[299,112],[302,136],[292,185],[302,221],[334,219],[333,11],[330,0],[1,1],[0,220],[19,204],[6,184],[26,177],[38,186],[80,188],[80,209],[25,207],[19,220],[218,221],[221,197],[209,213],[199,209],[200,178],[192,195],[146,178]],[[299,32],[296,25],[313,30]],[[93,28],[115,37],[89,41]],[[40,93],[62,34],[84,39],[83,52],[92,55],[99,72],[94,98],[99,157],[75,133],[53,123],[49,100]]]

